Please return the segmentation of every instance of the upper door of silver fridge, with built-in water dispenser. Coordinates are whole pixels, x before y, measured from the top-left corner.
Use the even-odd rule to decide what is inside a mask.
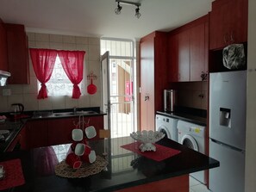
[[[247,71],[209,74],[209,137],[245,150]]]

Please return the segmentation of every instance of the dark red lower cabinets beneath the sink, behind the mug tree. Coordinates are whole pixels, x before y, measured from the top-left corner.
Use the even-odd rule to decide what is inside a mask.
[[[83,127],[82,118],[78,122],[78,117],[28,121],[25,125],[28,149],[72,143],[72,130]],[[88,126],[96,128],[97,136],[93,139],[99,139],[103,116],[84,117],[84,128]]]

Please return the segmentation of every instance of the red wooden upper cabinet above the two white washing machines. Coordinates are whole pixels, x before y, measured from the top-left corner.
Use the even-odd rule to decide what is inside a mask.
[[[208,73],[209,15],[177,28],[168,36],[169,81],[202,81]]]

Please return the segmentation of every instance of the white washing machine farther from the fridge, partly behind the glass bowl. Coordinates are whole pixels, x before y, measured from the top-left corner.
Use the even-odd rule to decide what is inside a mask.
[[[165,133],[165,137],[168,139],[178,142],[178,119],[157,114],[155,115],[155,124],[156,130]]]

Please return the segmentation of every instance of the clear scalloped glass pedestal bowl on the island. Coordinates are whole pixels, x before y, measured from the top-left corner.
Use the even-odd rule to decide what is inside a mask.
[[[153,143],[159,141],[160,139],[163,139],[165,137],[165,133],[161,133],[159,131],[137,131],[130,133],[131,138],[134,140],[137,140],[141,142],[140,145],[140,151],[156,151],[156,147],[153,145]]]

